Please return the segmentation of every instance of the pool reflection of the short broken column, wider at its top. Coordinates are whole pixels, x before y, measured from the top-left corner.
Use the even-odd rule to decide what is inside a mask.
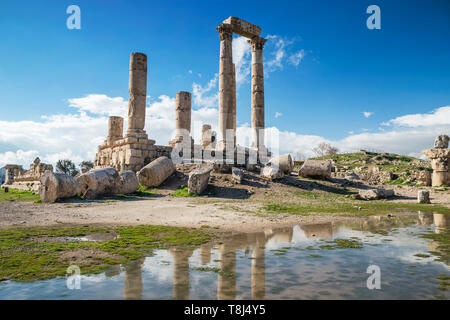
[[[191,249],[170,248],[173,256],[173,298],[175,300],[189,299],[189,258]]]

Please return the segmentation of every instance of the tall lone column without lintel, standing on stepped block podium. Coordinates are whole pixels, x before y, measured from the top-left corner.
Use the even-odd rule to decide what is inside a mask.
[[[130,99],[128,100],[127,137],[147,139],[145,106],[147,99],[147,56],[133,52],[130,56]]]

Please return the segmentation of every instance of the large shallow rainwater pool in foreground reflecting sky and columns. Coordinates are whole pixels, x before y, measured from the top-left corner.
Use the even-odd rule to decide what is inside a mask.
[[[0,299],[449,298],[447,292],[437,289],[436,279],[448,274],[449,266],[433,257],[414,256],[426,253],[430,242],[418,234],[432,230],[433,226],[416,224],[397,227],[387,236],[342,224],[266,230],[230,236],[229,241],[209,249],[156,250],[153,256],[131,265],[82,276],[81,290],[67,289],[65,279],[3,282]],[[361,240],[363,248],[317,249],[327,240],[350,237]],[[316,249],[310,250],[310,246]],[[381,268],[381,290],[366,287],[366,269],[371,264]],[[221,268],[237,277],[194,270],[198,267]]]

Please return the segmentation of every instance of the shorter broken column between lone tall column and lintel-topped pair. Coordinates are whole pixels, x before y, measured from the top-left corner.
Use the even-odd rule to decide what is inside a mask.
[[[183,141],[185,138],[191,140],[191,93],[186,91],[177,92],[175,111],[175,137],[169,142],[170,146]],[[188,141],[191,142],[191,141]]]

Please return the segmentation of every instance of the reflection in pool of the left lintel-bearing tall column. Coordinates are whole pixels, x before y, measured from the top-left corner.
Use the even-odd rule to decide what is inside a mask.
[[[236,251],[234,247],[222,244],[219,247],[221,273],[217,280],[217,299],[236,299]]]

